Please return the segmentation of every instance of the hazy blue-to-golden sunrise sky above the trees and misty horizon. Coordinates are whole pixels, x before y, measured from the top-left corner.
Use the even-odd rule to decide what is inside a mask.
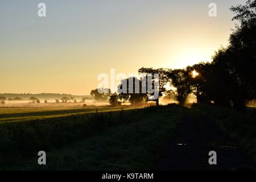
[[[110,69],[128,75],[211,61],[234,28],[229,8],[245,1],[0,0],[0,93],[84,95]]]

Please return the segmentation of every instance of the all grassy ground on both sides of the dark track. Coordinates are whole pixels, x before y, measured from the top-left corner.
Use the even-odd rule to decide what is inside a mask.
[[[208,105],[9,107],[0,111],[0,169],[154,169],[184,117],[212,118],[256,162],[254,108],[237,113]],[[46,166],[38,165],[41,150]]]

